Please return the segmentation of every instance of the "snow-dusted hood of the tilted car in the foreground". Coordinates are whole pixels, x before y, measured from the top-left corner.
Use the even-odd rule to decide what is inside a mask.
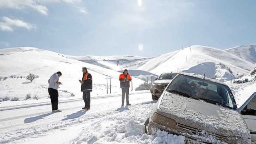
[[[198,130],[248,138],[246,124],[237,110],[166,92],[156,111]]]

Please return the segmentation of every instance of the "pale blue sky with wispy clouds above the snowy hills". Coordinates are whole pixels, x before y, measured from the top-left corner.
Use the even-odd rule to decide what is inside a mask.
[[[0,0],[0,48],[158,56],[256,44],[255,0]]]

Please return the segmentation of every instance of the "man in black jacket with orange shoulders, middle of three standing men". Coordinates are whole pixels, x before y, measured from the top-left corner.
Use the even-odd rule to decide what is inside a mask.
[[[91,95],[92,92],[92,75],[88,73],[87,68],[83,68],[83,78],[79,80],[81,83],[81,92],[83,92],[84,108],[83,110],[90,110]]]

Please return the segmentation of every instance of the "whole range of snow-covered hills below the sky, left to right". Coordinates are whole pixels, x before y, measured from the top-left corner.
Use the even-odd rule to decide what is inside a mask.
[[[124,69],[140,70],[160,75],[163,72],[189,72],[218,80],[232,80],[236,74],[247,74],[255,67],[254,45],[238,46],[228,50],[206,46],[191,46],[162,54],[155,58],[138,56],[67,56],[22,47],[0,49],[0,77],[26,76],[34,73],[39,76],[28,83],[25,78],[0,81],[0,97],[25,98],[27,94],[35,97],[48,97],[47,80],[51,74],[61,71],[60,97],[80,96],[80,83],[83,66],[88,67],[94,79],[95,96],[106,93],[106,78],[112,77],[112,93],[120,93],[118,76]],[[233,54],[234,53],[234,54]],[[143,80],[134,77],[134,89]],[[37,90],[36,90],[37,89]],[[38,90],[39,89],[39,90]]]

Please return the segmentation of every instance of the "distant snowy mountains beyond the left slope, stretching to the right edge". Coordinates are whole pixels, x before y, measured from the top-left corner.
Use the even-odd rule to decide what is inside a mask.
[[[255,67],[255,45],[220,50],[207,46],[190,46],[155,58],[134,56],[67,56],[112,70],[143,70],[160,75],[163,72],[204,74],[219,80],[232,80]],[[255,62],[254,62],[255,61]]]

